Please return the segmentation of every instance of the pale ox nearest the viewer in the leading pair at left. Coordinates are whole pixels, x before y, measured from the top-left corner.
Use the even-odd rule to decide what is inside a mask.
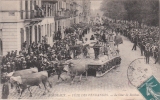
[[[19,85],[19,87],[22,89],[21,93],[20,93],[20,97],[22,96],[22,93],[25,91],[25,89],[28,88],[29,92],[30,92],[30,97],[32,96],[32,93],[30,91],[30,87],[31,86],[40,86],[40,84],[42,83],[45,87],[45,91],[43,93],[43,95],[46,94],[46,83],[49,83],[50,88],[52,88],[51,83],[48,80],[48,72],[47,71],[41,71],[38,73],[32,73],[32,74],[27,74],[27,75],[22,75],[22,76],[12,76],[10,78],[10,80],[14,81],[17,83],[17,85]],[[48,90],[49,92],[49,90]]]

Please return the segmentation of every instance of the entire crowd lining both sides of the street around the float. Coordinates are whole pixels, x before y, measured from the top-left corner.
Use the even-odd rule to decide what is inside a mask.
[[[55,34],[55,42],[51,46],[47,43],[47,36],[42,36],[42,41],[37,43],[32,42],[30,45],[25,41],[22,44],[22,50],[17,52],[8,52],[6,56],[2,57],[1,72],[10,73],[17,70],[29,69],[31,67],[37,67],[39,71],[47,70],[50,67],[55,66],[52,61],[61,62],[72,58],[76,58],[82,54],[88,57],[88,45],[85,44],[87,39],[83,37],[87,34],[92,27],[92,31],[97,33],[93,34],[90,40],[97,40],[95,45],[99,45],[99,42],[104,43],[104,55],[111,54],[115,45],[117,45],[116,51],[118,51],[118,44],[123,41],[120,40],[116,43],[115,37],[119,34],[126,36],[131,42],[134,43],[132,50],[136,50],[139,46],[141,55],[145,55],[146,63],[149,64],[149,58],[153,56],[157,63],[160,53],[158,45],[159,28],[157,27],[141,27],[138,28],[133,22],[124,22],[113,20],[103,20],[103,24],[94,24],[90,27],[77,28],[71,31],[68,28],[64,31],[65,35],[62,39],[61,32],[58,31]],[[115,37],[113,36],[115,35]],[[79,43],[82,41],[82,43]],[[95,48],[94,48],[95,49]],[[95,49],[95,58],[99,55],[99,48]],[[114,50],[115,51],[115,50]],[[72,56],[73,54],[73,56]]]

